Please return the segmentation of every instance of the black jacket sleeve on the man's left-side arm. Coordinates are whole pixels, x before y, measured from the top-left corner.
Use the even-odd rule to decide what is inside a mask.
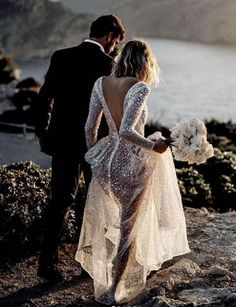
[[[41,138],[45,135],[53,107],[55,75],[56,75],[56,53],[52,55],[45,81],[40,89],[36,103],[35,134]]]

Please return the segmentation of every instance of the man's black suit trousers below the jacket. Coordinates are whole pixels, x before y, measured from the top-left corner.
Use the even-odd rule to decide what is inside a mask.
[[[52,157],[51,202],[43,217],[43,232],[39,265],[58,263],[58,247],[63,234],[66,215],[79,192],[79,178],[83,172],[87,192],[91,170],[84,158],[71,156]],[[83,208],[80,212],[83,216]]]

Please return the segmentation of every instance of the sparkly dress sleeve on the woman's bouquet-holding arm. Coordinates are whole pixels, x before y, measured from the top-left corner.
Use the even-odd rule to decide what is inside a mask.
[[[135,88],[134,91],[131,90],[129,105],[126,107],[120,127],[120,137],[135,145],[151,150],[155,142],[145,138],[135,130],[149,94],[150,88],[147,85],[141,85]]]

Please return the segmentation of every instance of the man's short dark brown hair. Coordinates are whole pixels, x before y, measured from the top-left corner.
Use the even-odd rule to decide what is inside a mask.
[[[89,37],[101,38],[110,32],[114,37],[120,37],[122,41],[125,36],[125,27],[119,17],[103,15],[92,22]]]

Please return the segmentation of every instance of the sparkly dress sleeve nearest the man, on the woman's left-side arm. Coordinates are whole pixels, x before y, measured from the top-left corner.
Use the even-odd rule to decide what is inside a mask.
[[[85,137],[88,149],[97,142],[98,128],[101,122],[103,108],[97,94],[97,82],[95,83],[89,105],[89,114],[85,124]]]

